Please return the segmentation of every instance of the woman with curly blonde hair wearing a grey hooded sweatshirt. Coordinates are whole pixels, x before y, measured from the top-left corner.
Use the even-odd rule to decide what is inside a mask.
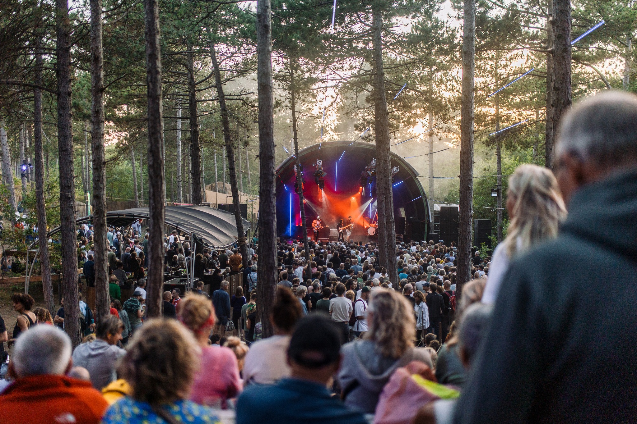
[[[350,407],[373,414],[383,386],[398,367],[419,360],[433,369],[429,353],[413,346],[416,321],[413,306],[397,291],[372,292],[366,310],[364,339],[341,348],[338,373],[341,399]]]

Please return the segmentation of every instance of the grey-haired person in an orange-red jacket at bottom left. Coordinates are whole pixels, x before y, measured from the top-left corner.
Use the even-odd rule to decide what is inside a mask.
[[[97,424],[108,407],[90,381],[66,376],[73,367],[71,339],[52,325],[20,335],[9,373],[15,381],[0,393],[0,424]]]

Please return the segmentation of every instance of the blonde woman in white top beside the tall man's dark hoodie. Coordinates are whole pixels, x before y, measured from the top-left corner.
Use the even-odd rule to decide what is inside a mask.
[[[493,252],[483,303],[494,303],[511,259],[557,236],[566,207],[550,170],[520,165],[509,179],[506,210],[511,223],[508,235]]]

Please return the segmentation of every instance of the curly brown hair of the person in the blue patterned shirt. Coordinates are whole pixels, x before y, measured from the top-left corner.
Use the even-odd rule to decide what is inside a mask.
[[[118,371],[133,399],[159,406],[188,397],[200,352],[178,321],[154,318],[135,333]]]

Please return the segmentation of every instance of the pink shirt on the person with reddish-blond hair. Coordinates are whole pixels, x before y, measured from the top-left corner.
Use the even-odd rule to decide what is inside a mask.
[[[201,350],[201,368],[195,374],[190,400],[214,405],[219,399],[236,397],[241,392],[239,367],[234,352],[223,346],[207,346]]]

